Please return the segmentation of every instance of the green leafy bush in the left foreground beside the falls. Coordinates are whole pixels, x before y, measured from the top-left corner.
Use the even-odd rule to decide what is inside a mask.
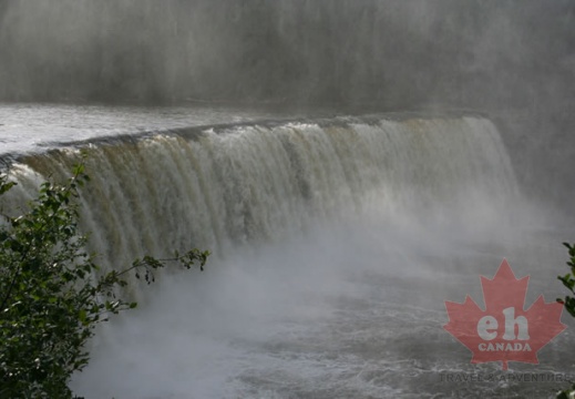
[[[89,181],[84,165],[65,184],[45,182],[22,215],[0,224],[0,398],[72,398],[72,372],[88,365],[88,340],[112,314],[136,307],[116,297],[135,272],[150,284],[175,262],[203,270],[208,252],[192,249],[102,273],[79,231],[75,198]],[[16,183],[0,175],[0,195]]]

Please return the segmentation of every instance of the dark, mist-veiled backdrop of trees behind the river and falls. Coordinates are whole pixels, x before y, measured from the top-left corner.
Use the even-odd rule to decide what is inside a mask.
[[[0,98],[536,105],[572,0],[3,0]]]

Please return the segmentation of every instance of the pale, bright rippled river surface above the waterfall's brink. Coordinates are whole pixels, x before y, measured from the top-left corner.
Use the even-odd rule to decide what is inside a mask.
[[[297,113],[290,114],[296,116]],[[226,106],[110,106],[0,103],[0,155],[117,134],[281,117],[278,111]]]

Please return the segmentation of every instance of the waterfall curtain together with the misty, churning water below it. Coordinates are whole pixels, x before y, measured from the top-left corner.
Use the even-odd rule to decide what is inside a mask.
[[[503,257],[532,274],[527,303],[558,290],[540,267],[561,264],[556,243],[525,216],[489,120],[249,121],[89,134],[12,165],[14,194],[31,197],[42,176],[64,176],[79,149],[88,152],[82,224],[106,267],[193,246],[214,253],[203,274],[174,272],[126,293],[144,305],[99,330],[92,362],[73,381],[79,395],[552,392],[557,383],[444,380],[505,375],[497,364],[469,365],[471,354],[442,329],[443,300],[471,294],[481,304],[479,275],[491,277]],[[512,364],[511,372],[568,371],[565,339],[540,352],[538,367]]]

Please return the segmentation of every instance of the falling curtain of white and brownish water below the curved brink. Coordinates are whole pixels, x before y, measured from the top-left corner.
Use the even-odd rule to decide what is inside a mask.
[[[489,120],[371,115],[72,143],[22,157],[20,194],[32,197],[42,176],[66,176],[81,147],[91,176],[81,221],[107,265],[189,247],[223,255],[367,207],[429,211],[462,193],[495,203],[516,192]]]

